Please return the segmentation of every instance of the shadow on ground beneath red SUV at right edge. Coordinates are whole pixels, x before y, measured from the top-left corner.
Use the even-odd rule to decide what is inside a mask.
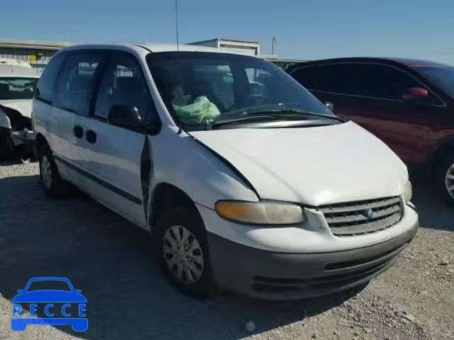
[[[426,171],[411,174],[412,202],[419,212],[419,226],[429,229],[454,231],[454,205],[448,205],[436,193]]]

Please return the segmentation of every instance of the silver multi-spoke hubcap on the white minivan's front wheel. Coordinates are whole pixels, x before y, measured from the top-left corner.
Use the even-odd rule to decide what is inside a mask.
[[[165,231],[162,242],[172,276],[182,283],[198,281],[204,272],[204,256],[194,234],[181,225],[173,225]]]

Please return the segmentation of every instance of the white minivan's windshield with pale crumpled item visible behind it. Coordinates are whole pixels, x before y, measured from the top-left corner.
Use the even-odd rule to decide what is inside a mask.
[[[331,115],[309,91],[274,65],[256,57],[210,52],[159,52],[148,66],[177,123],[206,130],[216,121],[254,113]],[[284,119],[284,118],[283,118]],[[308,115],[304,119],[319,119]]]

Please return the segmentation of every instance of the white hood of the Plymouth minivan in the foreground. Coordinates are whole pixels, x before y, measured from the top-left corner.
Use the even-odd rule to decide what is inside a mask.
[[[190,134],[240,171],[262,199],[325,205],[400,196],[404,163],[353,122]]]

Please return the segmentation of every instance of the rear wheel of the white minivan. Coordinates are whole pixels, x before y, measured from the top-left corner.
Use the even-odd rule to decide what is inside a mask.
[[[40,180],[46,195],[52,198],[65,196],[69,191],[69,183],[60,177],[52,151],[47,144],[40,148],[38,157]]]

